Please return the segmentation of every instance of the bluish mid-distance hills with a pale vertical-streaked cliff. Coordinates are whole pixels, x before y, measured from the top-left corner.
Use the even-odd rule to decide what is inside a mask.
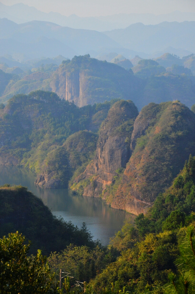
[[[161,56],[159,63],[172,66],[171,62],[176,62],[178,58],[170,59],[169,55]],[[88,54],[75,56],[71,61],[62,61],[59,67],[53,63],[44,66],[37,64],[37,68],[32,69],[34,72],[6,76],[0,101],[41,89],[53,91],[61,99],[70,102],[74,100],[79,107],[113,98],[130,99],[139,111],[150,102],[177,99],[191,107],[195,103],[195,79],[192,75],[194,56],[186,58],[182,63],[191,70],[177,64],[165,69],[160,64],[151,59],[141,59],[139,64],[126,70],[125,65],[121,67],[117,62],[100,61],[90,58]],[[16,69],[9,70],[14,72]]]

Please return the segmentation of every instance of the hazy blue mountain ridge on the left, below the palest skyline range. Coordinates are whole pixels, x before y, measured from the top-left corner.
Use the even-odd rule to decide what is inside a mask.
[[[120,45],[98,31],[71,29],[46,21],[16,24],[0,19],[0,55],[18,53],[32,59],[61,54],[72,58],[90,51],[96,54],[102,47]]]

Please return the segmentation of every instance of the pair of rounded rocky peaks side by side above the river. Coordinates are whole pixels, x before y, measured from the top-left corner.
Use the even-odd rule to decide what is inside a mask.
[[[72,189],[86,196],[101,196],[113,208],[138,214],[147,211],[158,194],[170,186],[189,155],[194,155],[195,116],[175,101],[150,103],[134,123],[132,119],[110,134],[105,133],[106,123],[102,126],[96,155],[84,173],[75,178]],[[120,152],[128,150],[128,144],[130,153],[123,154],[120,161]]]

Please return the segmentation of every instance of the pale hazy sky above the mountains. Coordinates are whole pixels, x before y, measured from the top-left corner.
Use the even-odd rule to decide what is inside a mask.
[[[195,12],[195,0],[0,0],[5,5],[19,2],[44,12],[63,15],[100,16],[115,13],[164,14],[175,10]]]

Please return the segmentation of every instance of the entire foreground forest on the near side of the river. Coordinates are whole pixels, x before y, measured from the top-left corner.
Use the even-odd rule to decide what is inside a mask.
[[[84,245],[75,243],[67,245],[62,251],[52,252],[47,263],[38,250],[37,255],[26,257],[29,245],[24,245],[24,238],[19,233],[9,234],[0,240],[1,254],[1,288],[4,292],[12,293],[11,290],[16,287],[32,287],[33,281],[37,281],[38,273],[40,277],[37,282],[38,288],[42,292],[37,293],[60,293],[59,270],[62,268],[66,273],[71,273],[73,280],[65,278],[63,283],[63,293],[75,293],[70,290],[75,281],[82,280],[85,284],[87,293],[194,293],[194,250],[195,250],[195,208],[194,208],[194,188],[195,185],[195,157],[189,156],[183,170],[174,179],[173,184],[164,193],[160,193],[154,202],[153,207],[146,215],[139,214],[135,219],[135,226],[126,222],[123,228],[115,234],[110,240],[108,248],[101,244],[95,244],[91,241],[91,235],[88,233],[85,225],[81,230],[85,231],[86,239]],[[31,205],[33,208],[31,214],[26,215],[26,223],[30,219],[40,215],[45,210],[49,215],[47,208],[40,200],[35,199],[31,193],[23,187],[0,187],[1,210],[5,209],[4,230],[11,231],[10,220],[14,222],[14,228],[22,231],[24,227],[24,217],[19,218],[18,209],[21,205],[19,193],[22,192],[22,203],[25,198],[24,207]],[[16,204],[8,205],[7,202],[13,201],[15,197]],[[33,199],[34,197],[34,199]],[[32,203],[34,200],[34,203]],[[39,202],[39,203],[38,203]],[[39,205],[37,205],[39,204]],[[36,209],[34,209],[36,208]],[[38,209],[37,209],[38,208]],[[14,214],[13,214],[14,212]],[[13,215],[13,216],[12,216]],[[16,224],[18,219],[18,224]],[[22,220],[22,222],[21,222]],[[48,218],[44,220],[47,222]],[[37,219],[37,234],[40,231],[39,221]],[[2,221],[1,221],[2,222]],[[50,214],[50,224],[61,225],[67,230],[67,223],[56,220]],[[49,224],[48,222],[48,224]],[[45,228],[44,228],[45,230]],[[80,234],[78,229],[72,230],[73,238]],[[4,231],[5,233],[5,231]],[[26,230],[27,233],[27,230]],[[32,235],[31,235],[32,236]],[[37,237],[37,235],[35,235]],[[32,242],[36,243],[36,237]],[[48,241],[48,236],[45,236]],[[90,244],[87,242],[91,242]],[[59,244],[53,244],[54,250]],[[40,246],[36,244],[35,247]],[[9,248],[9,249],[8,249]],[[17,248],[17,250],[14,248]],[[11,260],[15,260],[14,263]],[[6,270],[11,266],[13,275],[8,275]],[[19,264],[21,266],[19,267]],[[17,269],[17,270],[16,270]],[[29,274],[31,269],[31,275]],[[24,275],[24,273],[26,273]],[[33,279],[30,279],[34,277]],[[20,279],[19,279],[20,277]],[[25,278],[24,278],[25,277]],[[25,280],[25,283],[19,281]],[[83,284],[82,284],[83,285]],[[49,290],[50,288],[50,290]],[[31,290],[32,290],[31,289]],[[83,289],[83,288],[82,288]],[[80,290],[82,291],[80,288]],[[10,290],[10,292],[8,292]],[[7,292],[6,292],[7,291]],[[33,293],[33,292],[28,292]]]

